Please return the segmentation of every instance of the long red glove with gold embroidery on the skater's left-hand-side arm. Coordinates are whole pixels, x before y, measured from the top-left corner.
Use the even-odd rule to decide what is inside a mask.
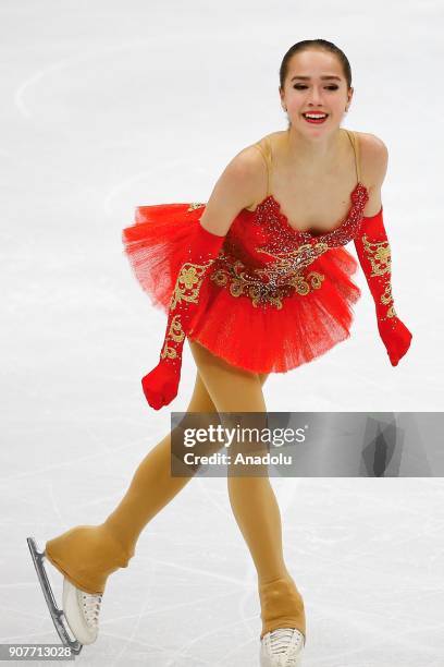
[[[177,272],[170,301],[160,362],[141,378],[145,398],[155,410],[168,405],[177,396],[185,336],[198,311],[200,286],[224,238],[205,229],[200,221],[190,231],[188,258]]]

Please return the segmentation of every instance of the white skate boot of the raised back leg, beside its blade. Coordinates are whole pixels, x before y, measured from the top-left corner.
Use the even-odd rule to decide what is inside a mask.
[[[92,644],[99,633],[101,595],[76,589],[63,578],[63,614],[81,644]]]

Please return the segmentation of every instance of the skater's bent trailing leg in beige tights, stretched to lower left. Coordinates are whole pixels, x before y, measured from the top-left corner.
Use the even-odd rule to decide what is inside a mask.
[[[199,373],[188,412],[215,413]],[[100,525],[79,525],[50,539],[46,556],[76,587],[102,593],[108,577],[134,556],[144,526],[192,477],[171,476],[171,433],[143,459],[115,510]]]

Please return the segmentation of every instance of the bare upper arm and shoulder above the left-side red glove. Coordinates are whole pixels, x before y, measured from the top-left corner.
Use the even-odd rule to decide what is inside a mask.
[[[230,160],[217,180],[200,218],[202,227],[219,235],[226,234],[236,216],[255,204],[264,180],[263,157],[255,144],[250,144]]]

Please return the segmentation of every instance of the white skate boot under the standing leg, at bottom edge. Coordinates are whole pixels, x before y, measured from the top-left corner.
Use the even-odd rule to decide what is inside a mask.
[[[260,667],[301,667],[304,634],[295,628],[267,632],[260,644]]]

